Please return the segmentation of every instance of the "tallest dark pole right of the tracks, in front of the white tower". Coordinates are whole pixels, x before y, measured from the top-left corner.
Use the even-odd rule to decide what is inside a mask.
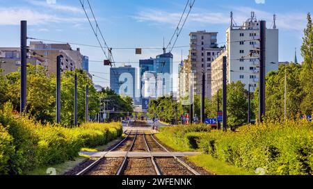
[[[260,71],[259,71],[259,122],[265,116],[265,66],[266,66],[266,21],[260,22]]]

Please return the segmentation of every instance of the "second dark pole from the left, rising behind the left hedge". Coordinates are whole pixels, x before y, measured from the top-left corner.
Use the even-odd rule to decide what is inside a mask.
[[[61,61],[63,56],[56,56],[56,123],[61,122]]]

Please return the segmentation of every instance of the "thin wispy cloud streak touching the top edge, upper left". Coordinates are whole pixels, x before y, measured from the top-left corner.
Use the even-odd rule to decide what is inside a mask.
[[[26,0],[26,1],[34,6],[42,6],[49,9],[61,10],[71,13],[83,13],[83,10],[81,8],[76,8],[73,6],[65,6],[58,3],[48,3],[47,1],[36,1],[36,0]]]

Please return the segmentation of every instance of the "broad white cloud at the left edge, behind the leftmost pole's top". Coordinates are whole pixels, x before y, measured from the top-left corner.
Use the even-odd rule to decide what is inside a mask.
[[[85,18],[80,17],[59,17],[40,13],[36,10],[26,8],[0,8],[0,25],[19,25],[21,20],[27,20],[29,25],[54,23],[77,23],[86,22]]]

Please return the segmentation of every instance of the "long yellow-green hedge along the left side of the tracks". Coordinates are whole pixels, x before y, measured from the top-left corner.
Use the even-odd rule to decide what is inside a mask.
[[[38,167],[74,160],[83,147],[96,147],[122,135],[119,123],[80,127],[42,125],[12,111],[0,110],[0,174],[26,174]]]

